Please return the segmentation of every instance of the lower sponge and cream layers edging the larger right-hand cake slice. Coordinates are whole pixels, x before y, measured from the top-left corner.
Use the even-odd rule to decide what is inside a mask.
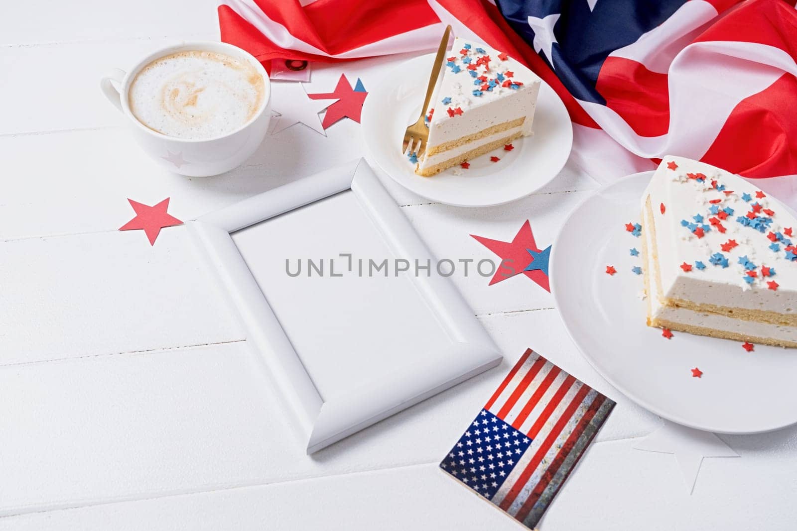
[[[647,224],[645,224],[647,225]],[[690,310],[662,303],[656,294],[656,261],[650,252],[651,233],[643,225],[645,237],[643,258],[645,264],[645,289],[648,294],[648,325],[663,326],[689,334],[707,335],[735,341],[797,347],[797,326],[784,326],[768,322],[748,321],[713,312]]]

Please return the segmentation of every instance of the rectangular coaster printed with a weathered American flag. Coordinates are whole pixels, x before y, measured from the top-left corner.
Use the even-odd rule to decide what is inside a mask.
[[[440,467],[533,529],[612,408],[528,349]]]

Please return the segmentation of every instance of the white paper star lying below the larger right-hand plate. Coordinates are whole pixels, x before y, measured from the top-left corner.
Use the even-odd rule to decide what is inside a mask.
[[[689,494],[692,494],[704,457],[739,457],[710,431],[694,430],[666,420],[662,428],[642,439],[634,448],[674,454]]]

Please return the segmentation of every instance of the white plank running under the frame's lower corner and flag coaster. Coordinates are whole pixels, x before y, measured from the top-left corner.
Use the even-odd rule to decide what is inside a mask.
[[[562,342],[555,312],[496,315],[485,325],[505,351],[499,369],[312,458],[244,342],[0,367],[0,425],[14,427],[0,431],[0,515],[436,463],[527,345],[611,390]],[[618,406],[599,440],[658,426],[610,396]]]

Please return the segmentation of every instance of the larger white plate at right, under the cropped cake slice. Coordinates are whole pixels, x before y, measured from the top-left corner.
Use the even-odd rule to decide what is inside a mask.
[[[587,197],[564,222],[551,257],[551,288],[568,334],[587,361],[643,408],[691,428],[758,433],[797,423],[797,350],[662,330],[645,324],[637,294],[642,239],[623,225],[639,221],[653,172],[634,174]],[[617,269],[607,275],[607,265]],[[692,377],[689,369],[703,371]]]

